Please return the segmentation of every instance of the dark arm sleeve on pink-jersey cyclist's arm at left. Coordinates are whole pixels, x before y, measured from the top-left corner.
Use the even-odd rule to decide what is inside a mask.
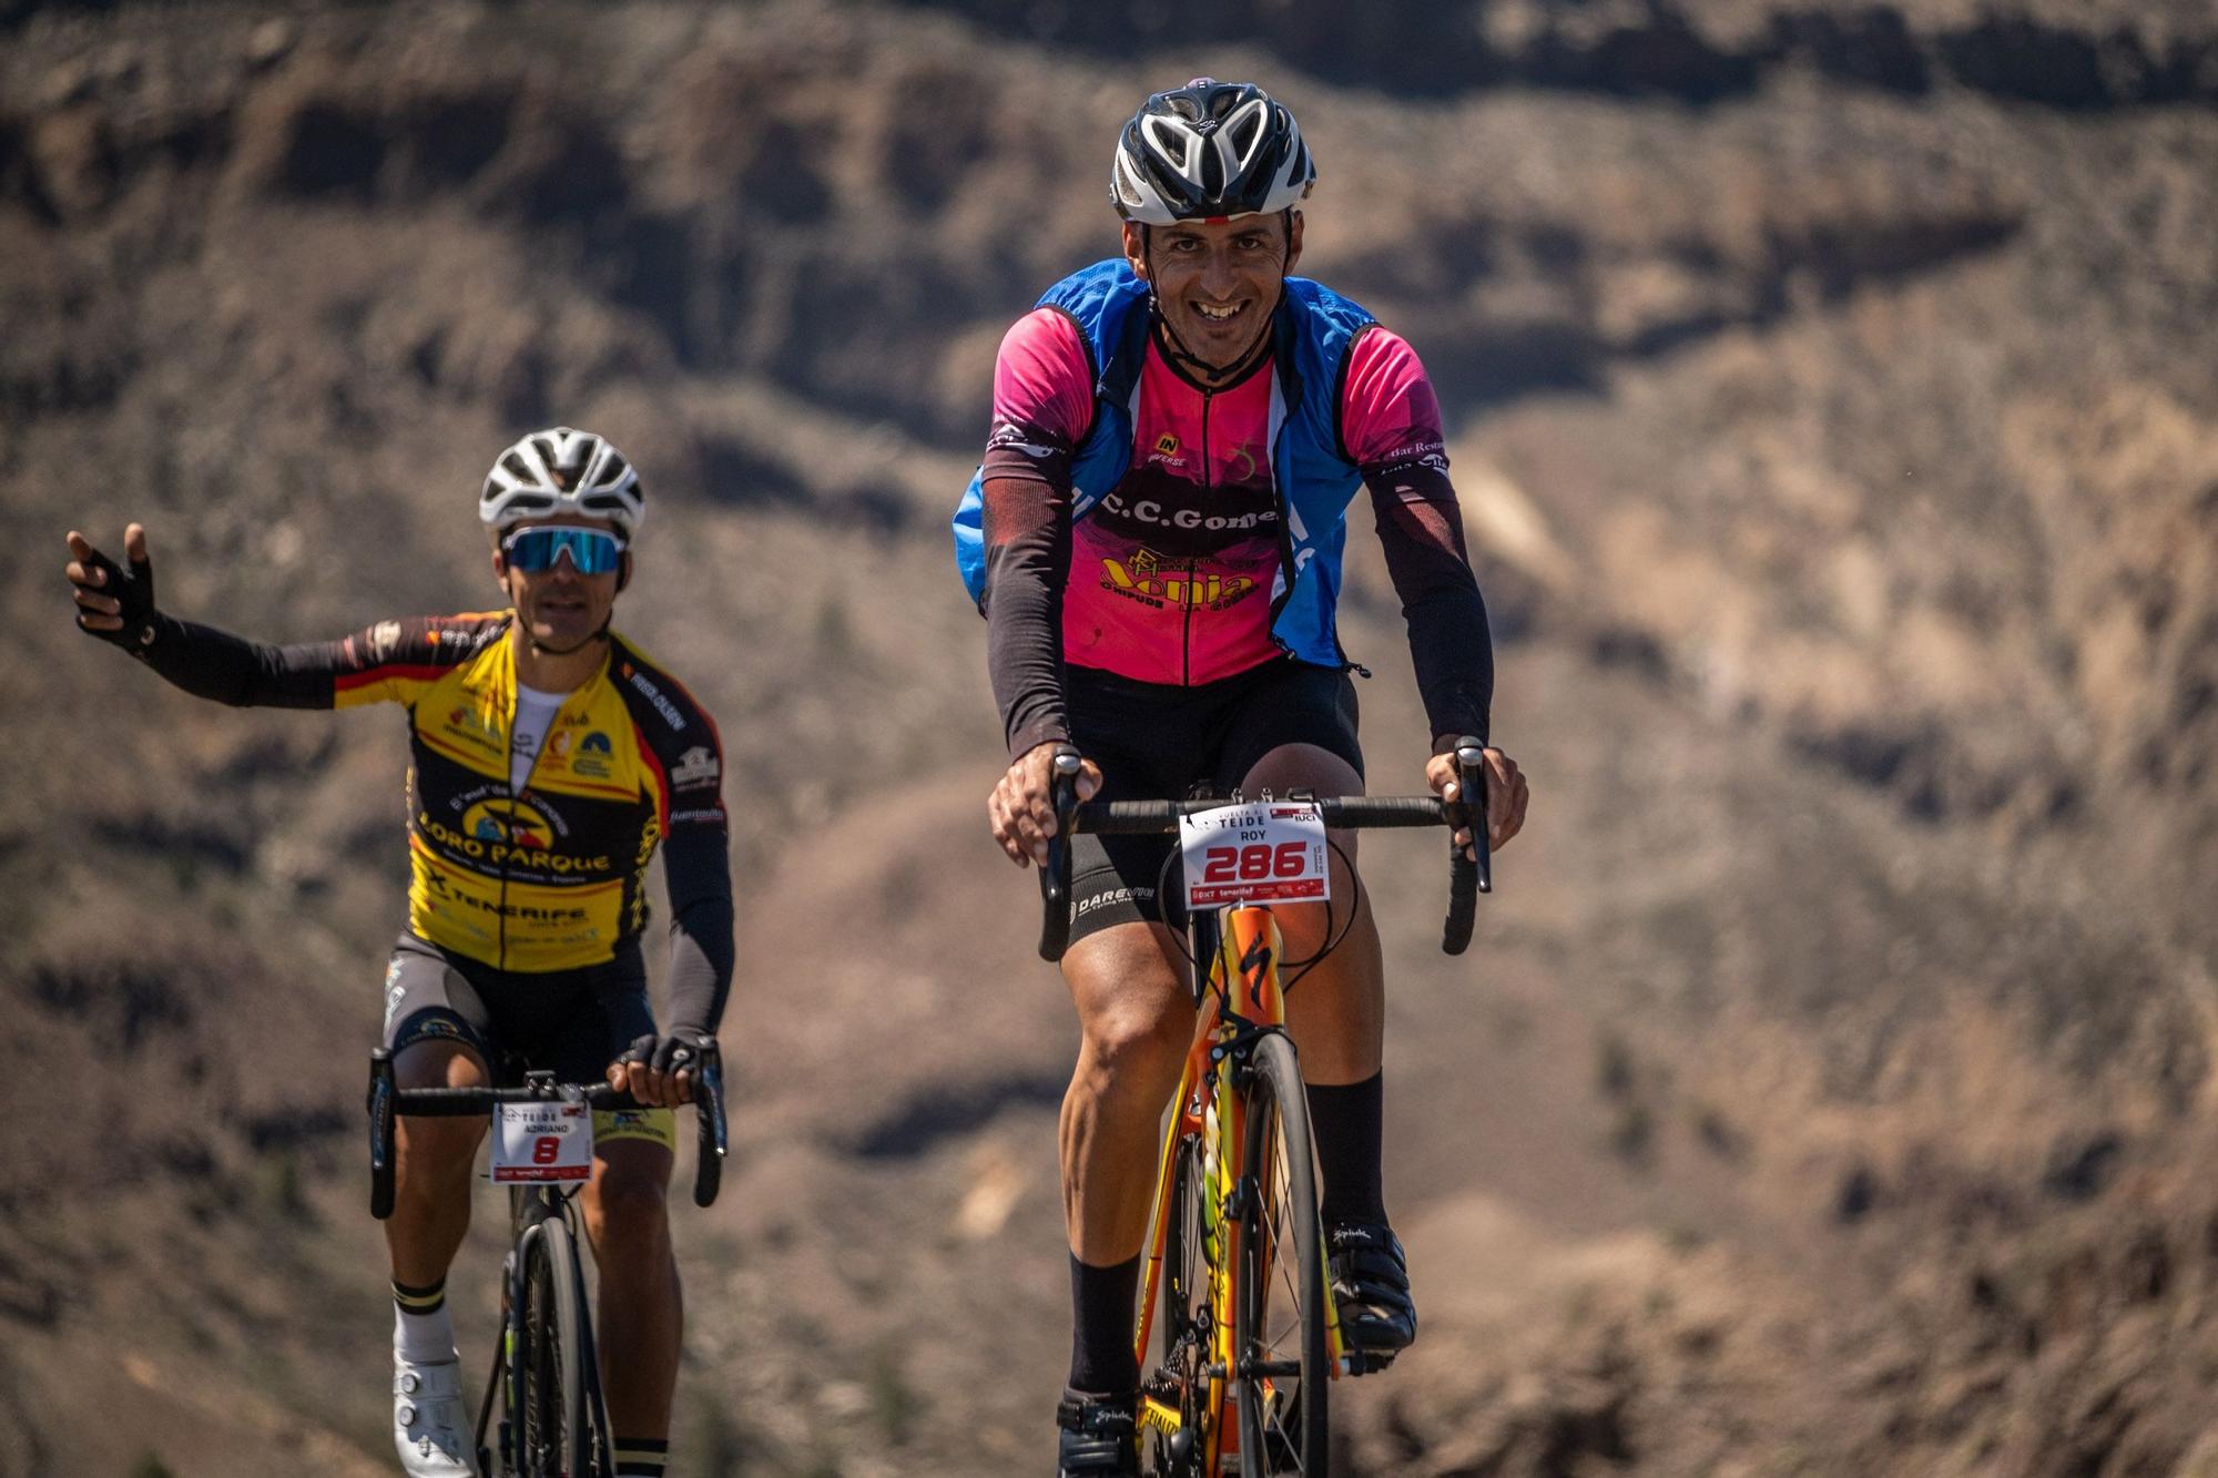
[[[1062,468],[1058,468],[1062,470]],[[1069,475],[985,468],[987,670],[1009,759],[1071,737],[1062,706],[1062,581],[1071,566]]]

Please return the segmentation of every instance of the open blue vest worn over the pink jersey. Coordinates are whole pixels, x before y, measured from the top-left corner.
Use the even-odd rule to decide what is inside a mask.
[[[1071,517],[1082,519],[1131,466],[1140,366],[1147,360],[1147,284],[1125,257],[1096,262],[1047,288],[1036,304],[1078,324],[1093,382],[1093,426],[1071,459]],[[1355,335],[1375,320],[1340,293],[1286,277],[1275,322],[1271,386],[1271,475],[1284,515],[1284,550],[1271,586],[1271,639],[1289,655],[1346,666],[1333,632],[1346,510],[1362,473],[1340,444],[1340,371]],[[985,468],[956,506],[956,568],[974,604],[985,601]],[[1291,581],[1291,584],[1289,584]]]

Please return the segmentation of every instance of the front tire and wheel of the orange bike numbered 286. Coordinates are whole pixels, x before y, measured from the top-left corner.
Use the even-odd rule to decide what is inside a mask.
[[[1255,1041],[1247,1085],[1244,1207],[1233,1267],[1233,1385],[1240,1474],[1322,1478],[1326,1414],[1324,1247],[1309,1090],[1293,1043]]]

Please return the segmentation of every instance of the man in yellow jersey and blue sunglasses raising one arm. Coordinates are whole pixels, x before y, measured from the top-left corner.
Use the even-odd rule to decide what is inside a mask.
[[[506,1065],[606,1076],[652,1107],[597,1114],[586,1232],[617,1471],[661,1474],[681,1294],[665,1190],[668,1105],[690,1099],[732,981],[732,879],[716,726],[612,632],[645,515],[632,464],[588,431],[539,431],[479,493],[506,610],[377,621],[266,646],[155,608],[146,533],[120,566],[69,535],[78,626],[171,684],[235,706],[408,710],[408,928],[386,970],[401,1087],[490,1083]],[[670,892],[670,1025],[648,1005],[645,874]],[[470,1223],[484,1121],[404,1118],[393,1256],[393,1436],[417,1478],[475,1474],[446,1272]]]

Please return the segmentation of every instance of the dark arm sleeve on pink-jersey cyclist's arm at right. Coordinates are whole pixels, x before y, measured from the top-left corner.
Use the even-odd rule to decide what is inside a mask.
[[[1435,466],[1364,468],[1386,573],[1408,621],[1408,655],[1435,748],[1459,735],[1486,741],[1495,701],[1495,644],[1486,601],[1464,553],[1464,519]]]

